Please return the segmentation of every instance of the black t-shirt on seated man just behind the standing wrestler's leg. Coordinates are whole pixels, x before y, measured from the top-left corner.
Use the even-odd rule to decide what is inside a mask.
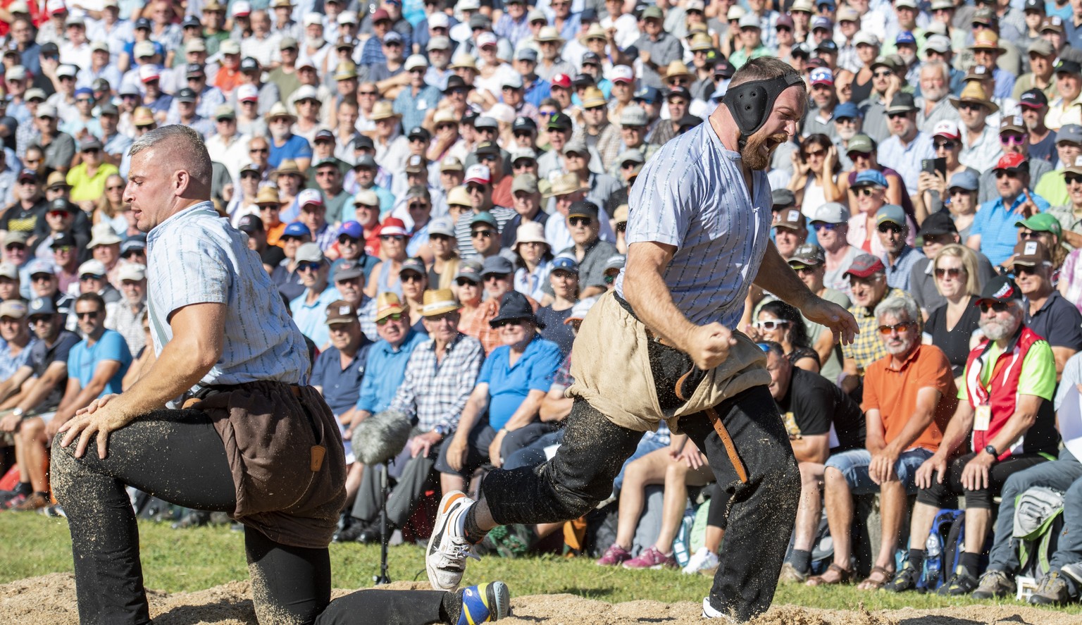
[[[865,415],[860,406],[819,374],[793,367],[789,394],[776,403],[783,419],[788,421],[791,415],[801,435],[829,434],[834,426],[837,441],[831,445],[831,453],[865,446]]]

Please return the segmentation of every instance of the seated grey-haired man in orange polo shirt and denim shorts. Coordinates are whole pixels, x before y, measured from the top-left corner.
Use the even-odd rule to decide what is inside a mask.
[[[890,296],[875,307],[887,355],[865,373],[861,408],[868,424],[863,450],[831,456],[823,472],[824,504],[834,562],[809,586],[840,584],[849,569],[853,495],[880,494],[882,542],[861,588],[881,588],[894,574],[894,551],[906,521],[907,493],[915,493],[916,469],[939,448],[958,405],[954,375],[942,350],[921,344],[921,313],[909,296]]]

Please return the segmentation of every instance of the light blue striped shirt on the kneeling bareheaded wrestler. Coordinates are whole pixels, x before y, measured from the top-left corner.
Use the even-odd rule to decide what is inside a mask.
[[[209,201],[173,214],[147,235],[147,304],[155,352],[173,337],[169,316],[224,303],[222,356],[199,386],[255,380],[307,383],[308,349],[247,238]]]

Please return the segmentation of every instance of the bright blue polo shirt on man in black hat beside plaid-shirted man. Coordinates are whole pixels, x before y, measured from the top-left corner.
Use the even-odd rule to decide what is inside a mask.
[[[510,359],[511,346],[496,348],[477,376],[478,385],[488,385],[488,425],[493,430],[507,424],[530,391],[549,392],[564,356],[556,343],[537,335],[514,365]]]

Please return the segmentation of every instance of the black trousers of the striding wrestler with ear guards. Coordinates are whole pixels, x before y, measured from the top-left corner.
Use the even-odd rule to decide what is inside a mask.
[[[663,391],[673,395],[675,379],[687,370],[679,359],[687,356],[668,348],[652,356],[659,396],[667,396],[660,394]],[[766,387],[739,393],[715,409],[747,468],[747,483],[737,478],[705,415],[683,417],[678,425],[707,454],[718,485],[731,498],[724,557],[710,603],[748,621],[766,612],[774,599],[796,520],[801,478],[789,434]],[[485,478],[481,494],[498,523],[554,523],[581,517],[609,496],[612,480],[643,437],[611,422],[581,399],[575,401],[565,430],[564,443],[550,461],[497,470]]]

